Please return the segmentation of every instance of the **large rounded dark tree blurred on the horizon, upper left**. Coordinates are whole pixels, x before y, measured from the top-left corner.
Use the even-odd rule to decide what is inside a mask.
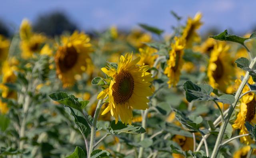
[[[38,17],[34,24],[35,32],[44,32],[48,36],[60,35],[64,31],[74,32],[77,26],[63,12],[52,12]]]

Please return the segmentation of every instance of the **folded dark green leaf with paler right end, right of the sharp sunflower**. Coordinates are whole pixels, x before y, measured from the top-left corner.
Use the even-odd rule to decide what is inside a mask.
[[[208,84],[194,84],[191,81],[187,81],[183,84],[183,89],[186,91],[188,102],[215,100],[224,104],[232,104],[235,101],[234,96],[230,94],[224,94],[219,97],[210,96],[213,88]]]

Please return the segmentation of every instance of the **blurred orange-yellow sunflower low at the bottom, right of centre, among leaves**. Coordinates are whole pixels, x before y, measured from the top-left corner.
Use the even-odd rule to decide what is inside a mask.
[[[180,136],[180,135],[175,135],[172,138],[172,141],[176,142],[179,144],[179,146],[182,148],[183,151],[188,151],[188,150],[193,150],[193,138],[190,137],[185,137],[185,136]],[[172,153],[173,158],[184,158],[181,154],[175,154]]]

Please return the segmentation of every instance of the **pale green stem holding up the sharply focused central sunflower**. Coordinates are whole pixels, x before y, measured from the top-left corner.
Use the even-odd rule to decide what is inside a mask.
[[[91,157],[92,150],[94,148],[95,134],[96,134],[96,124],[97,124],[97,120],[98,120],[98,117],[99,117],[99,114],[100,114],[101,106],[103,104],[102,102],[103,102],[102,99],[98,101],[98,104],[97,104],[97,107],[96,107],[96,110],[95,110],[95,114],[94,114],[94,117],[93,117],[93,120],[92,120],[91,138],[90,138],[88,158]]]

